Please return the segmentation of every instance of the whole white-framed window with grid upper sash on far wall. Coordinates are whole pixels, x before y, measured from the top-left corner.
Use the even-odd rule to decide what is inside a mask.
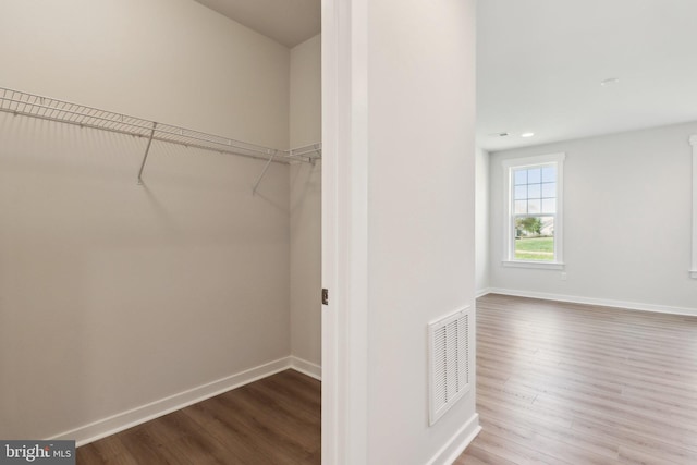
[[[564,154],[504,160],[505,266],[561,269]]]

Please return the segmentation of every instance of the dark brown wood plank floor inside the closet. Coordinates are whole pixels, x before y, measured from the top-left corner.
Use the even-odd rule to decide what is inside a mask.
[[[320,382],[286,370],[77,449],[77,464],[319,464]]]

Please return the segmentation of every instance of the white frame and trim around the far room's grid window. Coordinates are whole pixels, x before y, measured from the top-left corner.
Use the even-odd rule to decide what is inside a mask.
[[[566,154],[549,154],[536,157],[511,158],[502,161],[503,184],[504,184],[504,206],[503,206],[503,260],[504,267],[535,268],[547,270],[563,270],[563,192],[564,192],[564,160]],[[515,244],[513,237],[514,215],[513,215],[513,171],[522,168],[531,168],[542,164],[554,164],[557,167],[557,213],[554,215],[554,261],[516,260]]]

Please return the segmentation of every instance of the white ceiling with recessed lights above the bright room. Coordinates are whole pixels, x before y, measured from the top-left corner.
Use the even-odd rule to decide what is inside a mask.
[[[477,9],[478,146],[697,120],[696,0],[480,0]],[[511,135],[490,135],[500,132]]]

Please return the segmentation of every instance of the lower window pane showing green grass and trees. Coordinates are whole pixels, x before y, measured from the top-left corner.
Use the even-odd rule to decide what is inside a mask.
[[[516,218],[515,259],[554,261],[554,217]]]

